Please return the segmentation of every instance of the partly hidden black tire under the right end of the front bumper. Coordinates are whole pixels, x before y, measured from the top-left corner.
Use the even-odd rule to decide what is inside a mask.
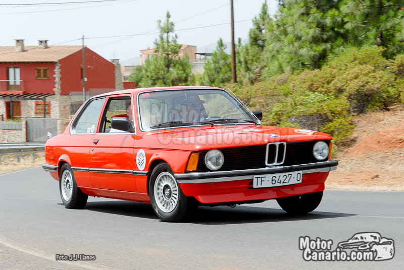
[[[321,203],[323,191],[277,198],[279,206],[289,214],[306,214],[314,211]]]

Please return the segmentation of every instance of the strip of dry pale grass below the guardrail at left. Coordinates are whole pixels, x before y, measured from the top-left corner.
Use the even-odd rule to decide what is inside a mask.
[[[17,155],[0,156],[0,174],[38,167],[45,163],[44,153],[36,153],[35,156],[32,154],[20,156],[20,162],[18,162]]]

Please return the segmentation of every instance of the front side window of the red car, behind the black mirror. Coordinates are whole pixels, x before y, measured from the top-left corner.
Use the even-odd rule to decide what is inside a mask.
[[[130,108],[130,114],[131,114],[132,111],[131,111],[130,97],[119,97],[110,99],[103,113],[104,119],[100,121],[98,132],[101,133],[126,132],[123,130],[113,129],[111,127],[111,119],[114,117],[127,117],[128,119],[132,120],[132,115],[130,115],[129,118],[129,115],[127,114],[128,108]]]

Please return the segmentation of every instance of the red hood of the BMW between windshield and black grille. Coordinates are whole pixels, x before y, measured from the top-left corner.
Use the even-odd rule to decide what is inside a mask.
[[[273,142],[332,140],[326,133],[261,125],[215,125],[149,131],[136,136],[142,148],[208,150],[213,148],[265,145]]]

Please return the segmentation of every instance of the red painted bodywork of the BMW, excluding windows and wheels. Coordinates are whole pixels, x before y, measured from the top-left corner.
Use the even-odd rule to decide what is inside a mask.
[[[336,169],[338,163],[329,160],[330,155],[324,161],[312,162],[313,158],[307,154],[311,153],[311,148],[299,154],[299,144],[303,146],[305,143],[312,147],[315,142],[324,141],[329,145],[332,138],[328,134],[306,129],[262,126],[248,122],[176,126],[156,130],[143,130],[141,125],[137,124],[140,121],[138,115],[141,109],[139,108],[140,94],[162,90],[194,89],[224,91],[213,87],[166,87],[122,90],[98,96],[105,97],[102,111],[111,98],[130,98],[135,131],[111,134],[97,132],[96,129],[90,130],[94,128],[88,127],[88,134],[72,133],[71,124],[77,118],[77,114],[80,114],[79,110],[62,134],[46,142],[46,164],[43,168],[59,181],[61,168],[67,163],[73,171],[77,187],[83,193],[90,196],[143,202],[150,202],[150,175],[162,162],[171,168],[183,194],[194,197],[199,204],[254,203],[324,190],[324,182],[329,172]],[[102,118],[103,115],[100,114],[95,126],[100,125]],[[287,150],[290,149],[289,145],[293,145],[295,158],[300,160],[300,164],[258,166],[257,163],[261,162],[260,158],[252,157],[251,153],[261,153],[261,159],[265,159],[265,155],[268,156],[268,153],[265,154],[265,151],[268,152],[267,145],[277,142],[285,142]],[[231,160],[228,169],[186,171],[191,153],[205,153],[212,149],[225,152],[226,159]],[[137,164],[139,159],[137,155],[140,150],[143,150],[145,154],[143,169],[139,169]],[[287,163],[290,155],[285,155]],[[250,163],[247,161],[245,161],[247,163],[240,163],[240,159],[249,160]],[[258,161],[255,162],[255,159]],[[203,163],[203,160],[198,160],[198,166],[200,163]],[[254,175],[296,170],[302,172],[300,183],[266,188],[253,187]]]

